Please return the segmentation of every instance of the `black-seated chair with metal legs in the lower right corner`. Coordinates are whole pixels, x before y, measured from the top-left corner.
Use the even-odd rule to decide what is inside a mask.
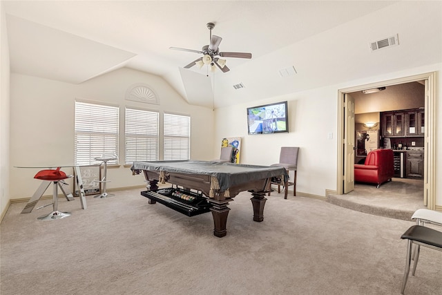
[[[405,274],[403,275],[401,294],[405,290],[407,284],[408,274],[410,272],[410,264],[412,260],[412,246],[416,247],[416,255],[414,256],[414,265],[412,276],[416,272],[417,262],[419,260],[420,247],[428,247],[431,249],[442,251],[442,232],[431,229],[430,227],[423,227],[421,225],[413,225],[401,236],[402,239],[407,239],[407,260],[405,263]]]

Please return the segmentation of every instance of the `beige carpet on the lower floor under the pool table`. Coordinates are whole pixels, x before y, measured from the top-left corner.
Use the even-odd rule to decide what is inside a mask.
[[[60,198],[73,215],[20,214],[1,223],[1,295],[10,294],[399,294],[414,223],[321,200],[272,193],[253,222],[250,194],[229,205],[227,236],[211,213],[189,218],[148,204],[140,190],[107,199]],[[41,201],[37,206],[50,202]],[[423,248],[405,294],[441,294],[442,252]]]

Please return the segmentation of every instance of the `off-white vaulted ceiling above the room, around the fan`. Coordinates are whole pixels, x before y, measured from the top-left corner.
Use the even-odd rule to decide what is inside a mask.
[[[190,104],[229,106],[436,64],[441,1],[2,1],[13,73],[79,84],[121,67],[163,77]],[[230,71],[183,68],[206,23]],[[372,52],[372,41],[399,46]],[[281,75],[285,69],[294,75]],[[244,88],[233,86],[243,84]],[[155,86],[153,85],[153,88]],[[213,92],[214,91],[214,92]]]

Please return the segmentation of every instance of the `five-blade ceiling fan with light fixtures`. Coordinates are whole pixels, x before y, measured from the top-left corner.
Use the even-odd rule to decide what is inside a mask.
[[[210,44],[202,46],[202,50],[193,50],[179,47],[169,47],[173,50],[188,51],[190,53],[200,53],[203,56],[195,59],[190,64],[184,66],[184,68],[191,68],[192,66],[204,66],[211,65],[211,70],[215,70],[215,66],[218,66],[223,73],[228,72],[230,69],[226,66],[226,60],[220,59],[220,57],[236,57],[242,59],[251,59],[251,53],[224,53],[220,52],[221,37],[212,36],[212,29],[215,27],[214,23],[207,23],[207,28],[210,30]]]

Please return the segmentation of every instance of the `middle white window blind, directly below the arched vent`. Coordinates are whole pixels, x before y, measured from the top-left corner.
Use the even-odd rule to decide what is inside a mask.
[[[157,112],[126,108],[126,164],[158,160],[159,118]]]

